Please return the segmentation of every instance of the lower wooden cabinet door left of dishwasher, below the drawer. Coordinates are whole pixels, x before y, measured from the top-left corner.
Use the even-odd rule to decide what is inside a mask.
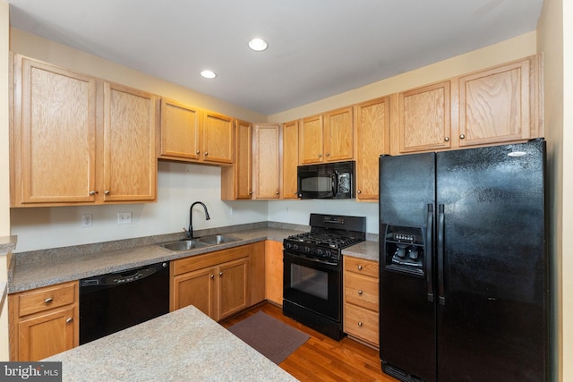
[[[18,361],[39,361],[72,349],[76,318],[74,308],[68,307],[22,319],[18,324]]]

